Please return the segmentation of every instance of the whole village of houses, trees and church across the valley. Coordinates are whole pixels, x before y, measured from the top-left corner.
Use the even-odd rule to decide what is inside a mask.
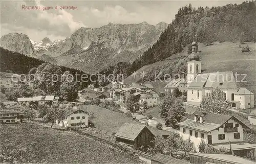
[[[171,79],[164,92],[150,83],[113,81],[79,90],[75,102],[63,103],[55,95],[20,97],[1,107],[0,123],[37,124],[98,138],[134,151],[142,163],[256,163],[256,143],[244,139],[245,131],[256,129],[254,93],[238,87],[231,71],[202,73],[197,42],[191,49],[186,77]],[[27,106],[62,113],[29,112]]]

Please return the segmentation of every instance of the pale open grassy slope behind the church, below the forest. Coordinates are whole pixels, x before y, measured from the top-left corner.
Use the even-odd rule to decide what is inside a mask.
[[[242,53],[242,48],[239,48],[239,43],[232,42],[215,42],[213,45],[204,46],[202,43],[199,43],[199,50],[201,50],[201,64],[203,73],[211,72],[223,72],[223,71],[232,71],[233,73],[238,74],[247,74],[245,80],[247,82],[238,83],[241,87],[246,87],[251,90],[253,93],[256,93],[256,43],[248,42],[246,43],[251,48],[250,52]],[[246,44],[242,45],[245,46]],[[157,65],[163,65],[169,62],[172,62],[175,57],[187,56],[186,49],[174,56],[167,58],[164,61],[159,61],[150,65],[145,65],[142,68],[138,69],[137,73],[140,75],[141,72],[147,72],[151,67]],[[243,78],[243,76],[238,76],[238,80]],[[139,80],[140,77],[133,78],[132,76],[127,77],[124,81],[127,84]],[[160,81],[151,81],[156,91],[163,91],[163,87],[166,85],[166,82]]]

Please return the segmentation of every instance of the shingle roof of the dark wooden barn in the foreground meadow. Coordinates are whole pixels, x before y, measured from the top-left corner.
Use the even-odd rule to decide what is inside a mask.
[[[146,128],[146,126],[143,124],[124,123],[116,132],[115,136],[134,140],[144,128]]]

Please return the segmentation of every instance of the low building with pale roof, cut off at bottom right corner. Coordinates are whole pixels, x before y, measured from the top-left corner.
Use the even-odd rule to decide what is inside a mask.
[[[190,163],[256,164],[255,161],[232,154],[189,153]]]

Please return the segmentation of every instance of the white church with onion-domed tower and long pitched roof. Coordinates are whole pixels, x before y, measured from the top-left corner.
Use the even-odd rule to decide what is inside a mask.
[[[187,62],[187,103],[200,105],[203,97],[208,97],[213,89],[220,88],[234,109],[254,108],[254,94],[246,88],[239,88],[233,72],[201,73],[198,44],[191,44],[192,53]]]

